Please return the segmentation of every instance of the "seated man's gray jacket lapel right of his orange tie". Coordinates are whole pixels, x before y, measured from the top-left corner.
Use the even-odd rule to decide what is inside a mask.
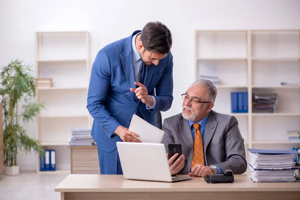
[[[214,132],[215,128],[217,126],[218,121],[215,120],[214,115],[210,112],[209,116],[207,118],[207,123],[205,127],[205,133],[204,133],[204,139],[203,139],[203,151],[204,155],[206,155],[206,148],[208,143],[210,142]],[[205,157],[205,163],[207,164],[206,156]]]

